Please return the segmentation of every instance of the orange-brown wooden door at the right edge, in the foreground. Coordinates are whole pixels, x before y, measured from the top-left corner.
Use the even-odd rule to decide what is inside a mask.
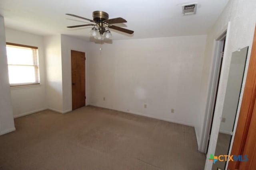
[[[256,29],[231,155],[248,155],[248,161],[229,162],[228,169],[256,170]]]

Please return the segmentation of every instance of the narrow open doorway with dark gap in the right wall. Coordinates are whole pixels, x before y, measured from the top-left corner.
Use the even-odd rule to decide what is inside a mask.
[[[224,49],[226,45],[226,31],[217,39],[216,41],[216,58],[215,58],[215,64],[213,67],[213,75],[212,75],[212,94],[211,97],[208,99],[209,102],[209,118],[207,122],[206,127],[206,140],[204,143],[204,153],[207,154],[209,142],[210,142],[210,134],[212,131],[212,121],[214,117],[214,111],[215,111],[215,105],[216,105],[216,99],[218,94],[218,86],[220,82],[220,74],[221,74],[221,68],[222,68],[222,61],[223,61],[223,55],[224,55]]]

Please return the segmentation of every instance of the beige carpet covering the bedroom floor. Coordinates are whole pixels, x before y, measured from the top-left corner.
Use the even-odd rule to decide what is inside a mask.
[[[15,119],[0,136],[0,170],[203,170],[193,127],[82,107]]]

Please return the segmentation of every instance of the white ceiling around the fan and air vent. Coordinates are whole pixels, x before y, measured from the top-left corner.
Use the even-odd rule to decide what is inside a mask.
[[[198,3],[196,15],[183,16],[182,5]],[[0,0],[0,15],[6,27],[39,35],[62,33],[89,41],[92,27],[68,29],[89,23],[66,13],[92,19],[92,12],[103,10],[109,18],[128,22],[115,24],[134,30],[133,35],[111,30],[112,39],[139,39],[205,35],[228,0]]]

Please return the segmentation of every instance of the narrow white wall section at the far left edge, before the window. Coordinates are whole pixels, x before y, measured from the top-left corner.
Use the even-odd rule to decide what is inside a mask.
[[[0,16],[0,73],[0,135],[2,135],[15,131],[8,78],[4,18],[2,16]]]

